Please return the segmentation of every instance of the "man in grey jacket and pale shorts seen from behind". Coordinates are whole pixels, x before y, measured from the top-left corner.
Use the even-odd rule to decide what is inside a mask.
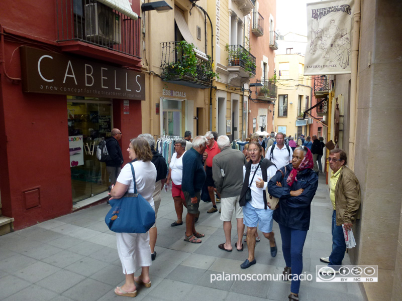
[[[232,252],[230,234],[232,230],[232,215],[233,211],[235,211],[238,237],[235,247],[238,251],[243,251],[243,208],[240,207],[239,200],[243,186],[243,166],[247,161],[240,150],[230,147],[227,136],[219,136],[217,142],[221,153],[215,155],[213,159],[212,175],[216,190],[221,198],[221,220],[223,221],[226,238],[226,242],[221,243],[218,247],[221,250]]]

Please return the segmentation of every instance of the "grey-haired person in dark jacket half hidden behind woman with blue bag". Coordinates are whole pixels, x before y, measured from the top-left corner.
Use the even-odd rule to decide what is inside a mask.
[[[155,181],[155,190],[152,193],[152,198],[155,203],[155,219],[158,215],[158,209],[160,202],[162,200],[161,197],[161,190],[163,188],[163,184],[165,184],[166,177],[167,177],[167,165],[165,159],[163,159],[162,155],[159,154],[155,150],[155,139],[151,134],[140,134],[138,137],[144,138],[149,143],[149,147],[151,148],[152,152],[152,160],[151,162],[155,165],[156,168],[156,181]],[[156,251],[155,251],[155,244],[156,238],[158,236],[158,229],[156,228],[156,222],[153,224],[152,228],[149,229],[149,245],[151,247],[151,259],[155,260],[156,258]]]

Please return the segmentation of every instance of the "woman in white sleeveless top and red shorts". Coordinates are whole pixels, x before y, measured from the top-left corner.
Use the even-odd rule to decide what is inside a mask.
[[[169,164],[169,173],[166,179],[166,185],[172,180],[172,197],[174,201],[174,210],[176,210],[177,221],[170,224],[171,227],[180,226],[183,224],[183,205],[187,208],[184,194],[181,190],[181,179],[183,177],[183,155],[185,153],[186,141],[183,139],[174,142],[176,153],[172,155]]]

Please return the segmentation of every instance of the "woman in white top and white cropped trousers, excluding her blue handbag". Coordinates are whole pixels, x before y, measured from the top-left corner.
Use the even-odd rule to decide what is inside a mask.
[[[112,187],[110,195],[114,199],[119,199],[126,192],[134,192],[133,174],[130,166],[133,165],[137,191],[154,208],[152,193],[155,190],[156,168],[151,162],[151,148],[144,138],[135,138],[130,141],[127,152],[129,152],[130,160],[137,159],[137,161],[124,166],[117,178],[116,185]],[[146,287],[151,286],[149,278],[149,266],[151,265],[149,232],[116,233],[116,240],[123,273],[126,275],[126,282],[122,286],[116,287],[115,293],[119,296],[135,297],[137,287],[134,281]],[[134,271],[139,266],[141,266],[141,275],[134,277]]]

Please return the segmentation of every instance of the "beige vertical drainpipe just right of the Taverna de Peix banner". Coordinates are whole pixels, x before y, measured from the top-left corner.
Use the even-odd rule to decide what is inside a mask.
[[[361,0],[355,1],[355,13],[353,14],[353,37],[351,53],[351,76],[350,76],[350,119],[349,119],[349,168],[354,170],[355,145],[356,145],[356,115],[357,115],[357,82],[358,82],[358,56],[360,38],[360,6]]]

